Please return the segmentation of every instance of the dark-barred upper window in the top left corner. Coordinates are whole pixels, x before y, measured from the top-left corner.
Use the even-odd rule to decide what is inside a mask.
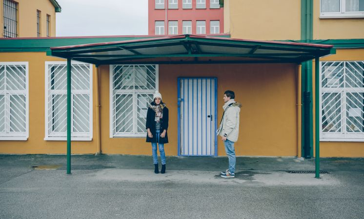
[[[3,0],[4,37],[18,37],[18,3]]]

